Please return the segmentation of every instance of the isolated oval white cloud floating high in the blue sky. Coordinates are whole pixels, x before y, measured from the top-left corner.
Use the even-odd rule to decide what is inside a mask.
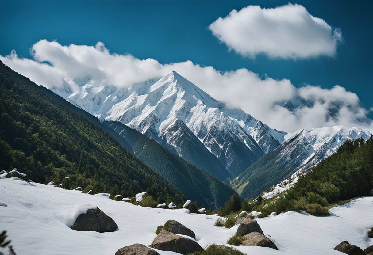
[[[341,29],[332,29],[303,6],[290,3],[270,9],[250,5],[232,10],[209,29],[229,49],[249,57],[260,53],[284,59],[333,56],[342,41]]]

